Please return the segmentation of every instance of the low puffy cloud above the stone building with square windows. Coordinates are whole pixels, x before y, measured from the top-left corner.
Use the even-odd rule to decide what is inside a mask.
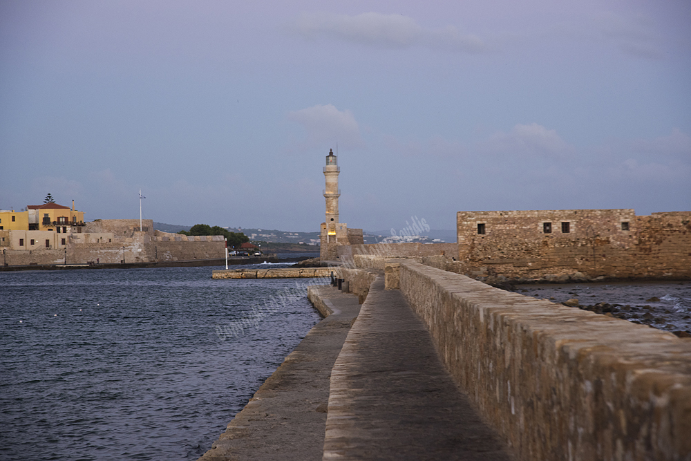
[[[517,124],[509,133],[498,132],[478,146],[481,151],[531,158],[562,158],[575,153],[574,147],[555,130],[532,123]]]

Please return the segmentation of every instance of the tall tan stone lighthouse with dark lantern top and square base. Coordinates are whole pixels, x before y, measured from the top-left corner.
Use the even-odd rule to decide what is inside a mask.
[[[324,167],[326,220],[321,223],[321,249],[319,252],[322,261],[338,261],[337,247],[339,245],[363,243],[362,229],[348,229],[345,223],[339,223],[339,197],[341,196],[339,173],[341,173],[341,169],[338,166],[338,158],[334,156],[333,149],[330,149]]]

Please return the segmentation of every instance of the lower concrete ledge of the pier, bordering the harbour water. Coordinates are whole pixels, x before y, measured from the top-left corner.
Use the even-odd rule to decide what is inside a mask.
[[[310,287],[317,323],[200,461],[321,460],[331,369],[360,309],[357,296]]]

